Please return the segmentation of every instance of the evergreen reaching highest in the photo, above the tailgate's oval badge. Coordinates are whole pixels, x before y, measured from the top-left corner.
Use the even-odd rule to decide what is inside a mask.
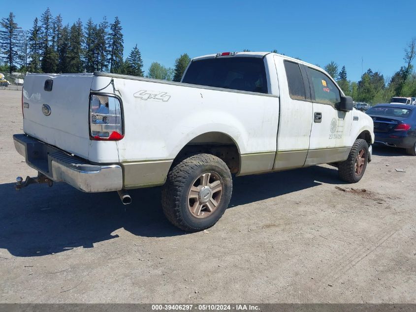
[[[56,72],[58,65],[58,55],[53,47],[53,23],[54,19],[49,7],[42,14],[41,17],[41,47],[42,47],[42,61],[41,68],[43,72]]]

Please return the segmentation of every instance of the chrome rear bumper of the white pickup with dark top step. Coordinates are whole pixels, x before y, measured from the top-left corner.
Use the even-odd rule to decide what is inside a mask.
[[[93,165],[24,134],[13,135],[13,140],[26,163],[55,182],[63,181],[88,193],[123,188],[123,171],[119,165]]]

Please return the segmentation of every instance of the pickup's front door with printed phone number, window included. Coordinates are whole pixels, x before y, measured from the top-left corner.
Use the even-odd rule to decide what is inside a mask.
[[[341,92],[324,72],[306,67],[314,119],[305,166],[345,160],[351,149],[352,111],[337,110]]]

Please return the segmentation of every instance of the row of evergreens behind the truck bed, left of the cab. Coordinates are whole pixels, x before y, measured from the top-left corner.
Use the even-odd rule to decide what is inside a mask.
[[[47,8],[33,21],[30,30],[22,30],[10,12],[0,21],[0,70],[12,73],[47,72],[76,73],[109,71],[112,73],[144,76],[143,60],[137,44],[126,59],[120,19],[113,23],[106,17],[95,23],[91,18],[83,25],[78,19],[64,25],[61,14],[53,16]],[[182,54],[175,67],[151,64],[147,77],[180,81],[190,57]]]

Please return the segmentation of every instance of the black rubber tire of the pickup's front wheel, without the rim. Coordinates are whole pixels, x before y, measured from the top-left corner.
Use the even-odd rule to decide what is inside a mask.
[[[362,149],[365,150],[364,168],[360,174],[357,174],[355,172],[355,163],[357,155]],[[354,144],[352,145],[347,160],[338,164],[338,176],[340,177],[340,179],[350,183],[356,183],[359,180],[361,180],[362,176],[365,173],[365,169],[367,168],[368,157],[369,153],[367,142],[364,139],[356,139]]]

